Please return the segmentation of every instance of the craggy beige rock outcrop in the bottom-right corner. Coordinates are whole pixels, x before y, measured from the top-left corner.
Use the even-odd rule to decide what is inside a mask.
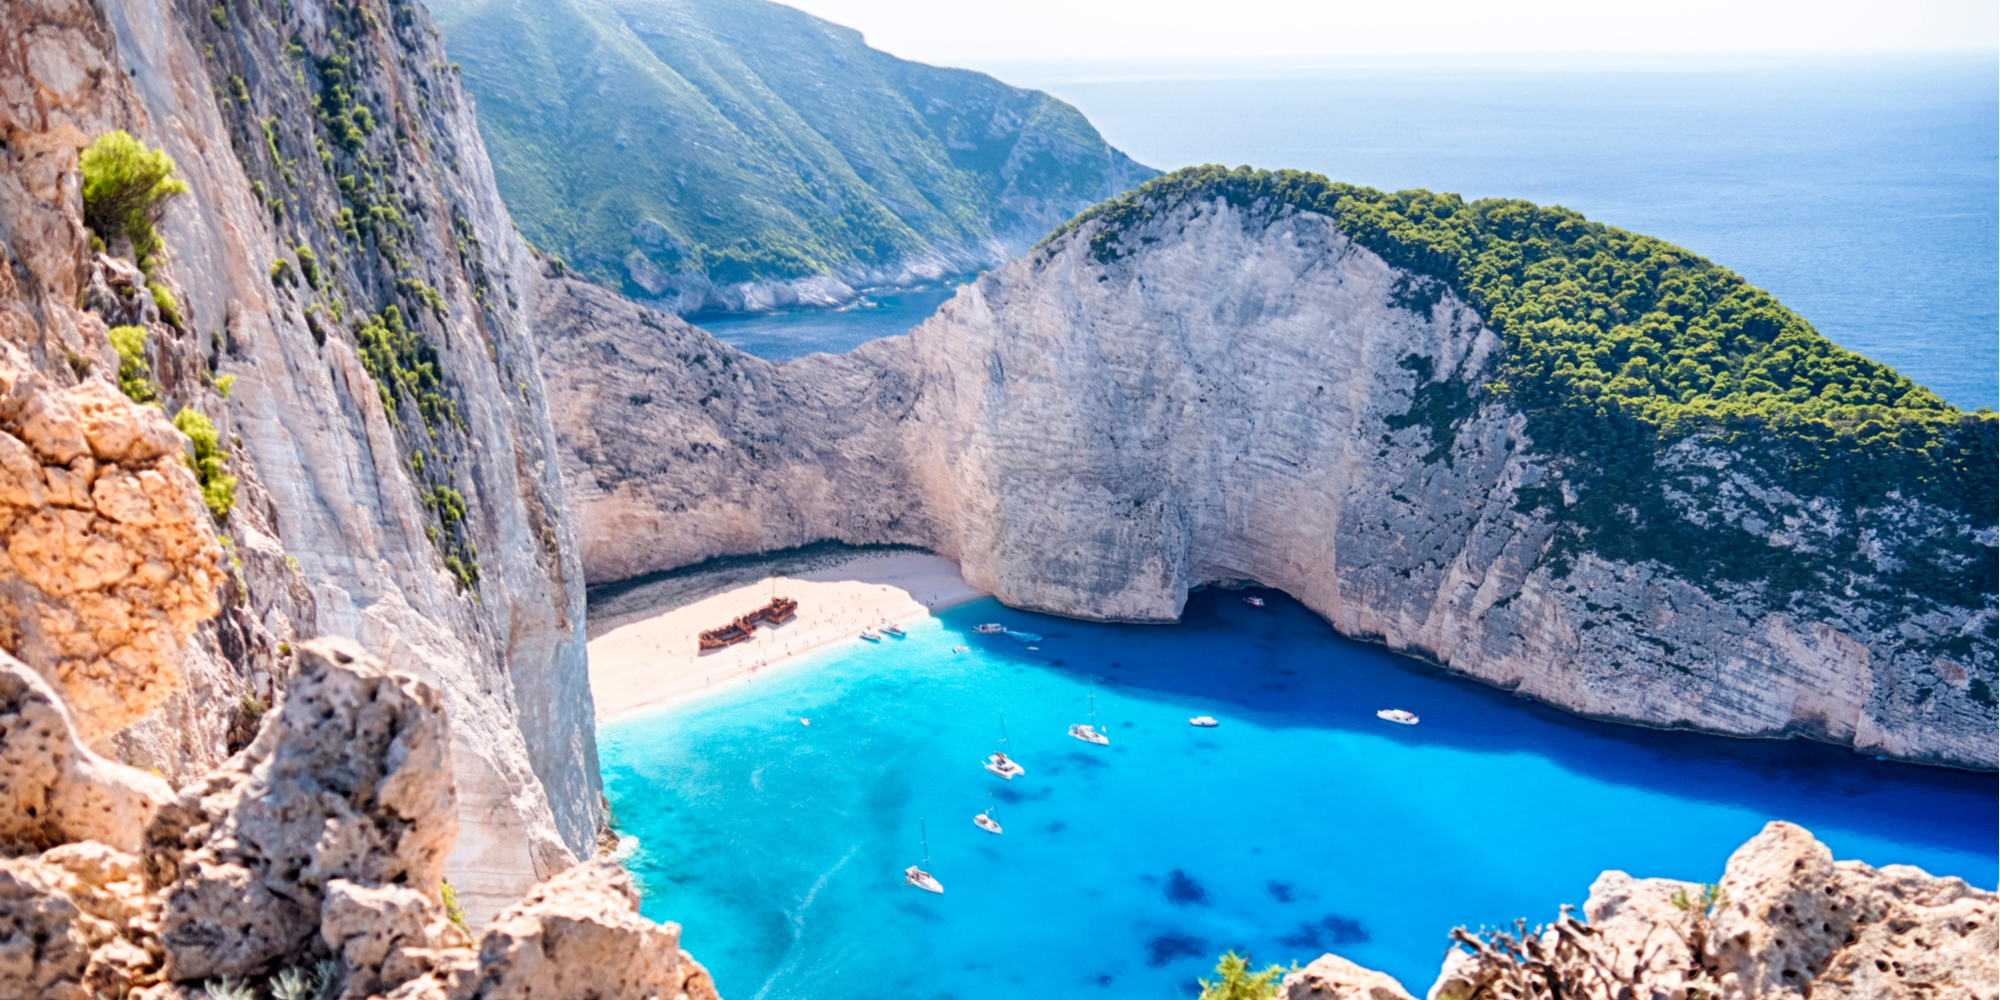
[[[2000,992],[1992,892],[1902,864],[1834,862],[1786,822],[1738,848],[1712,892],[1604,872],[1584,914],[1538,928],[1538,942],[1458,934],[1474,950],[1446,956],[1430,998],[1544,996],[1550,982],[1580,984],[1574,996],[1670,1000]]]

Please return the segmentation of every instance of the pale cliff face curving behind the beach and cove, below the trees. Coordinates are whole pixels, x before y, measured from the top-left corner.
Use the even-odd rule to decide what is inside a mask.
[[[1990,518],[1804,494],[1754,442],[1696,430],[1642,452],[1626,486],[1674,518],[1644,530],[1722,562],[1798,552],[1844,582],[1630,558],[1578,526],[1596,470],[1530,434],[1496,388],[1504,338],[1448,284],[1284,204],[1196,196],[1108,226],[910,336],[782,366],[544,292],[548,336],[570,330],[544,350],[566,372],[552,410],[586,574],[908,542],[1008,604],[1136,622],[1256,580],[1578,714],[1994,766],[1990,582],[1954,602],[1816,554],[1990,558]]]

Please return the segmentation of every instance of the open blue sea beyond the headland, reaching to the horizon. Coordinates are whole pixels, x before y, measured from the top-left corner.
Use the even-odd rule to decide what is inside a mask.
[[[978,68],[1076,104],[1162,170],[1302,168],[1660,236],[1958,406],[2000,404],[1994,56]],[[704,326],[776,358],[850,350],[934,308]]]

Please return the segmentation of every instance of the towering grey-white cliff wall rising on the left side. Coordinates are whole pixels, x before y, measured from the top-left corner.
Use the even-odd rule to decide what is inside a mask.
[[[128,696],[136,718],[98,712],[100,750],[190,776],[248,738],[296,642],[360,638],[442,692],[462,820],[444,874],[476,916],[594,854],[582,572],[518,306],[538,262],[494,194],[424,14],[368,0],[110,0],[8,4],[0,20],[12,282],[0,292],[10,364],[32,372],[8,376],[6,430],[34,450],[48,492],[16,496],[26,512],[12,524],[56,518],[82,532],[72,548],[102,548],[120,542],[118,524],[178,524],[188,496],[202,502],[172,428],[170,448],[90,442],[88,454],[34,438],[34,414],[64,400],[86,436],[90,406],[152,414],[136,424],[148,434],[164,426],[112,388],[106,326],[146,330],[160,406],[204,414],[236,476],[234,508],[190,518],[186,556],[132,558],[130,580],[46,582],[18,548],[0,568],[14,600],[32,586],[100,622],[164,622],[142,630],[154,636],[142,652],[178,648],[44,654],[48,628],[8,634],[8,648],[60,680],[86,724]],[[120,240],[92,254],[82,226],[78,148],[112,128],[170,152],[190,188],[168,204],[146,276],[118,260]],[[56,466],[82,476],[86,502],[48,490],[72,482]],[[170,502],[182,506],[166,514]],[[218,536],[226,554],[202,556]],[[226,568],[220,602],[208,598],[220,614],[178,610],[170,586],[202,592],[200,568],[214,564]],[[92,610],[64,586],[96,586],[116,606]],[[92,634],[116,640],[102,624]],[[136,696],[146,684],[164,696]]]

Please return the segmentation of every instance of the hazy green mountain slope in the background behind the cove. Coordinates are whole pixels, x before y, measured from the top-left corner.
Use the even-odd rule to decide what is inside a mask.
[[[1048,94],[906,62],[764,0],[432,14],[522,232],[640,298],[692,276],[976,270],[1156,174]]]

